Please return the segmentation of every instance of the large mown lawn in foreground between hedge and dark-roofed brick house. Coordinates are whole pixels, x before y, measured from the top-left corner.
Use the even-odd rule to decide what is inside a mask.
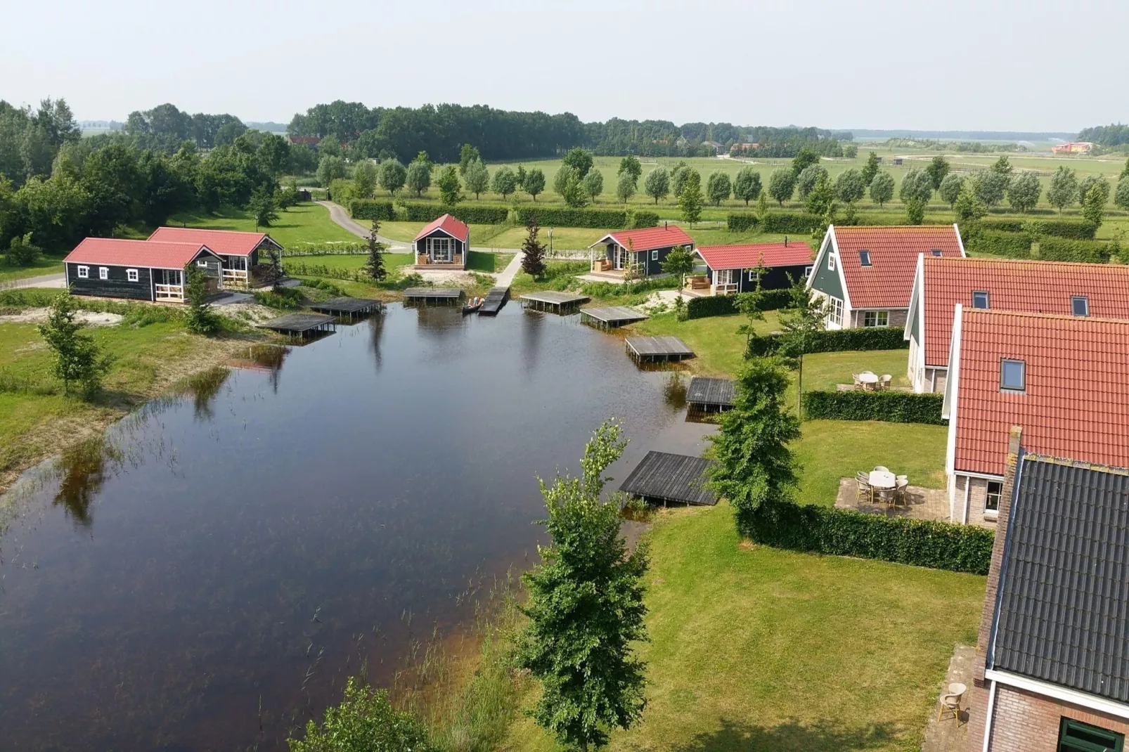
[[[726,505],[648,537],[648,706],[612,750],[920,747],[953,647],[975,639],[983,577],[750,546]],[[557,747],[522,718],[504,749]]]

